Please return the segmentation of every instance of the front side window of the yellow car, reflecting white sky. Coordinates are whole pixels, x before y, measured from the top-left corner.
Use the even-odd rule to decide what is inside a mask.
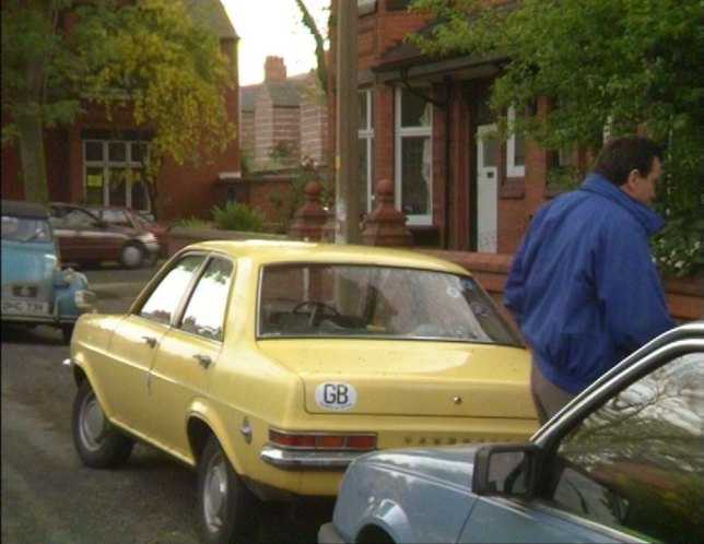
[[[203,259],[203,256],[189,256],[178,261],[149,296],[139,315],[171,323]]]

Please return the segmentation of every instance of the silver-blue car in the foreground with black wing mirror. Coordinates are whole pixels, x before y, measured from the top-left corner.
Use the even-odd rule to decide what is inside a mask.
[[[318,542],[702,542],[703,434],[697,321],[624,359],[528,442],[363,456]]]

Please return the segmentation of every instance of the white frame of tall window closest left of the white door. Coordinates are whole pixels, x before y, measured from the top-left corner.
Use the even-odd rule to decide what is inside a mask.
[[[406,214],[408,217],[408,225],[432,225],[433,224],[433,108],[429,106],[430,118],[427,125],[420,127],[402,127],[401,126],[401,111],[402,111],[402,96],[406,87],[398,85],[395,90],[395,191],[394,204],[402,213],[406,213],[401,206],[401,194],[403,187],[402,179],[402,165],[401,153],[402,143],[404,138],[426,138],[430,145],[430,172],[427,179],[427,213],[424,214]],[[430,87],[419,87],[421,93],[430,93]]]

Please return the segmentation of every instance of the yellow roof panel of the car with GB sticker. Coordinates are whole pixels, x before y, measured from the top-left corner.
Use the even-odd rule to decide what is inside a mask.
[[[219,251],[256,264],[274,262],[340,262],[438,270],[459,274],[469,272],[450,261],[404,249],[293,240],[209,240],[186,249]]]

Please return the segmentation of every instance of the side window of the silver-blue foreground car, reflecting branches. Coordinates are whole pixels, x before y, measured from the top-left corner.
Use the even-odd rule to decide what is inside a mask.
[[[703,417],[704,353],[680,356],[621,391],[562,440],[551,500],[655,540],[702,535]]]

